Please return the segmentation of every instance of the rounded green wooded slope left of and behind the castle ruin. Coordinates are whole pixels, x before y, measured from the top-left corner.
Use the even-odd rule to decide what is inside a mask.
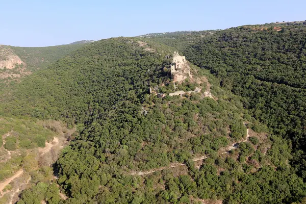
[[[151,83],[160,80],[157,79],[159,72],[153,70],[161,69],[166,60],[157,53],[144,51],[144,48],[128,38],[101,40],[81,48],[16,86],[3,97],[15,100],[14,107],[10,107],[8,101],[5,111],[15,115],[51,116],[72,123],[83,122],[87,114],[94,114],[88,109],[97,104],[103,106],[99,108],[109,109],[118,98],[132,97],[127,95],[131,86],[139,87],[135,90],[136,96],[146,92],[147,85],[137,83],[139,74],[142,74],[142,79],[154,78]],[[129,52],[124,49],[129,49]],[[137,57],[139,55],[141,57]],[[141,73],[137,72],[140,67]],[[110,87],[113,92],[110,92]],[[104,104],[98,103],[102,99]]]

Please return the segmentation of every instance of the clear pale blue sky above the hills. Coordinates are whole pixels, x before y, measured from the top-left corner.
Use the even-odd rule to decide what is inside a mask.
[[[52,46],[306,20],[304,0],[0,0],[0,44]]]

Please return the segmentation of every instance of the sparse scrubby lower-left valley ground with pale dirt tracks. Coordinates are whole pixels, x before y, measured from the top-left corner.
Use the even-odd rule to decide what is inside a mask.
[[[55,181],[52,165],[74,131],[59,121],[1,117],[0,203],[15,203],[31,185]],[[54,185],[45,184],[49,196],[59,197],[58,192],[50,192],[57,188]]]

